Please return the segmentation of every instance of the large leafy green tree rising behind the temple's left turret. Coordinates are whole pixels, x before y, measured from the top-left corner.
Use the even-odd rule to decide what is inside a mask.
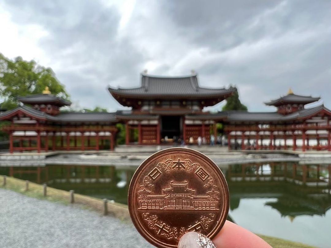
[[[48,86],[52,94],[69,98],[51,68],[38,65],[34,60],[25,61],[22,57],[14,60],[0,53],[0,96],[4,98],[1,107],[7,110],[18,106],[17,97],[42,93]]]

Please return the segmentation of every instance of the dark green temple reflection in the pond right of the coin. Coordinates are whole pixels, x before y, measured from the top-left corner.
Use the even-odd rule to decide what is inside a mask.
[[[275,198],[265,205],[281,216],[325,215],[331,208],[331,165],[293,162],[228,166],[230,209],[245,198]]]

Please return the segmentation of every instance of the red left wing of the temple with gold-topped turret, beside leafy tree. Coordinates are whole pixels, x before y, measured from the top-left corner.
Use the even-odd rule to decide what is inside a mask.
[[[117,132],[114,114],[61,113],[59,108],[71,102],[52,95],[48,87],[42,94],[18,100],[24,105],[0,114],[1,121],[10,121],[2,128],[9,133],[10,153],[114,149]],[[18,146],[14,146],[15,140]]]

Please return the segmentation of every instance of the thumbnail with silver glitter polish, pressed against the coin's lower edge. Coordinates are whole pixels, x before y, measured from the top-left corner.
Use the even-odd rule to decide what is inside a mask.
[[[187,232],[178,242],[178,248],[216,248],[213,241],[200,232]]]

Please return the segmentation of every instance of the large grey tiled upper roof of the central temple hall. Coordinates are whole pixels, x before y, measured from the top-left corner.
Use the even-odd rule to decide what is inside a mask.
[[[234,87],[225,88],[203,88],[198,84],[197,75],[190,76],[151,76],[141,75],[141,87],[123,89],[108,88],[111,94],[127,96],[218,96],[232,93]]]

